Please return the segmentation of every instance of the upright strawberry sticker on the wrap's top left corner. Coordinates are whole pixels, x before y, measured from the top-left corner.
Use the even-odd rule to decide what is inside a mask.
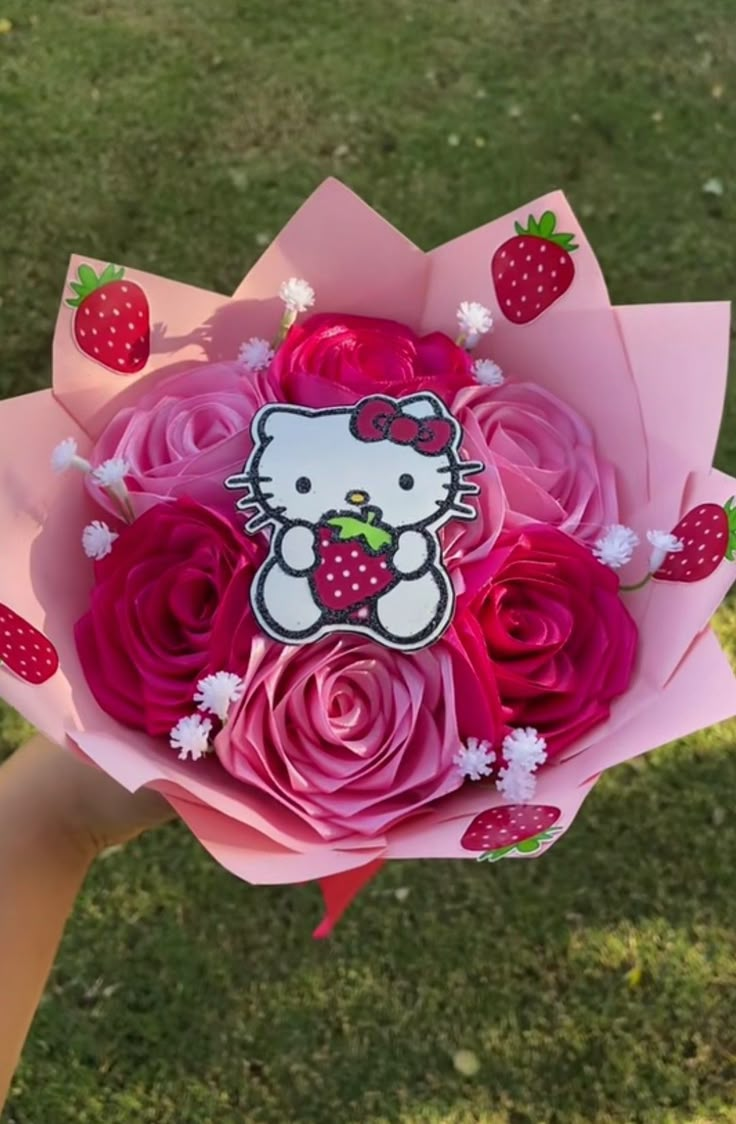
[[[151,311],[145,292],[125,270],[106,265],[98,274],[91,265],[80,265],[78,280],[70,282],[74,297],[72,334],[79,350],[116,374],[137,374],[151,354]]]

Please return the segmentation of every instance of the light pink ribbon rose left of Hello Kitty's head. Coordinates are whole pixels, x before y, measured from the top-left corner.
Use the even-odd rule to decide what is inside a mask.
[[[136,513],[188,496],[235,518],[224,480],[243,469],[253,415],[278,400],[267,373],[239,363],[208,363],[170,375],[116,414],[100,436],[92,463],[120,456],[130,465],[127,484]],[[116,515],[101,489],[94,498]]]

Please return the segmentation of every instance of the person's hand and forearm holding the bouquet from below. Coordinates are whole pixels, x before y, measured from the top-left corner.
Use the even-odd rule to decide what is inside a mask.
[[[64,922],[101,851],[172,815],[37,735],[0,768],[0,1112]]]

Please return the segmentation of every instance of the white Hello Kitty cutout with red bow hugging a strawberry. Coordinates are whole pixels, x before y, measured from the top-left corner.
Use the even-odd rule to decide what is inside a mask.
[[[438,531],[474,519],[465,497],[483,471],[463,461],[460,423],[431,393],[355,406],[269,405],[254,448],[226,488],[245,489],[248,534],[273,528],[251,589],[258,624],[283,644],[362,633],[405,652],[434,643],[453,617]]]

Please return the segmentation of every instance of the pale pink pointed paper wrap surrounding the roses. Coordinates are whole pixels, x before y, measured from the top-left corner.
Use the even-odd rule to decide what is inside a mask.
[[[520,327],[498,308],[490,262],[515,220],[552,210],[575,234],[575,280],[544,315]],[[70,277],[79,262],[73,259]],[[620,517],[642,535],[670,528],[698,501],[723,502],[736,481],[711,470],[720,423],[729,310],[725,303],[610,306],[596,257],[561,194],[547,196],[425,254],[336,181],[325,182],[266,250],[233,298],[127,270],[151,307],[152,354],[121,379],[75,346],[62,305],[54,337],[53,391],[0,408],[0,601],[42,629],[61,670],[40,687],[0,669],[3,697],[44,733],[67,741],[130,790],[163,792],[205,847],[251,882],[326,882],[327,932],[382,861],[470,858],[461,837],[476,813],[503,803],[484,785],[464,786],[383,835],[329,843],[287,807],[243,799],[213,760],[194,768],[103,714],[85,683],[73,626],[92,581],[80,534],[94,514],[84,488],[54,478],[52,447],[74,436],[84,454],[105,425],[166,374],[231,362],[249,336],[271,336],[280,283],[306,277],[316,311],[391,317],[418,332],[456,330],[461,300],[491,308],[496,328],[476,354],[519,381],[536,382],[585,419],[599,453],[617,468]],[[638,558],[638,556],[637,556]],[[639,563],[640,565],[640,560]],[[636,580],[633,563],[624,581]],[[609,720],[543,769],[536,803],[561,810],[558,839],[600,773],[627,758],[736,713],[734,677],[708,622],[734,577],[725,562],[708,580],[653,583],[627,598],[640,633],[629,691]]]

